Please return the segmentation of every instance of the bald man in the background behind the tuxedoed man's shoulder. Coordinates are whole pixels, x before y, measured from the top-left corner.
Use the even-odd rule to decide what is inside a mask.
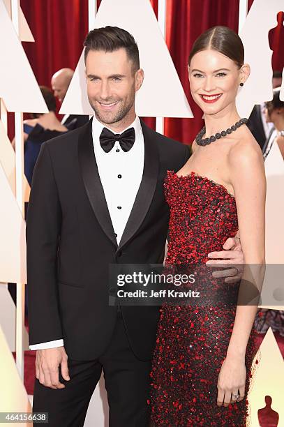
[[[74,71],[71,68],[61,68],[54,75],[52,75],[51,86],[52,91],[54,91],[54,96],[56,96],[60,103],[63,102],[63,99],[66,96],[70,81],[72,80]],[[61,123],[68,128],[68,130],[73,130],[80,128],[85,123],[89,121],[89,116],[84,116],[81,114],[66,114]]]

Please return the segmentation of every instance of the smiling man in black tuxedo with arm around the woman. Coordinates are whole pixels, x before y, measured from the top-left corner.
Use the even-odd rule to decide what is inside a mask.
[[[133,36],[117,27],[85,42],[94,118],[43,144],[27,218],[29,343],[36,354],[33,412],[50,426],[83,426],[102,370],[110,426],[148,426],[155,306],[111,306],[110,264],[163,262],[169,221],[163,181],[188,147],[135,114],[144,73]],[[243,262],[238,239],[215,257]],[[216,260],[218,262],[218,260]]]

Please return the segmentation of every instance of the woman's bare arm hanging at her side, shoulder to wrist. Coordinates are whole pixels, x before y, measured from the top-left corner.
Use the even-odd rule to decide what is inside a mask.
[[[243,278],[258,283],[265,263],[265,196],[264,161],[258,147],[248,142],[230,156],[232,186],[237,204],[239,236],[244,253]],[[228,352],[245,354],[256,306],[238,306]],[[240,314],[239,314],[240,313]],[[247,313],[245,317],[243,315]],[[249,315],[251,313],[251,315]]]

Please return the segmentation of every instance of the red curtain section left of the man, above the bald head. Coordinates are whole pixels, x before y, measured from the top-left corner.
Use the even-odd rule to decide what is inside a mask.
[[[38,84],[77,66],[88,32],[88,0],[21,0],[35,43],[22,43]],[[58,104],[59,107],[59,104]]]

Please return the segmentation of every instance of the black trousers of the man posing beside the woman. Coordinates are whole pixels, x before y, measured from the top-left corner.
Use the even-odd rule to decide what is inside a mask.
[[[91,361],[68,358],[68,369],[70,381],[63,380],[59,373],[65,389],[50,389],[36,379],[33,412],[48,412],[48,426],[84,426],[89,401],[102,370],[110,406],[110,427],[149,426],[147,398],[151,361],[140,361],[133,354],[121,312],[105,353]]]

